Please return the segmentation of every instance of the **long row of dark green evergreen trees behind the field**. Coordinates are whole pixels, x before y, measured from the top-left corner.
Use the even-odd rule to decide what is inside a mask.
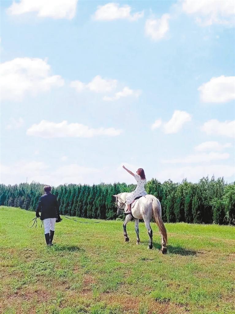
[[[105,219],[116,211],[112,194],[131,192],[135,187],[126,183],[64,184],[53,187],[52,193],[57,196],[61,214]],[[163,221],[235,225],[235,182],[226,184],[223,178],[206,177],[198,183],[168,180],[161,184],[152,179],[145,189],[161,202]],[[43,192],[43,184],[36,182],[0,184],[0,205],[35,211]]]

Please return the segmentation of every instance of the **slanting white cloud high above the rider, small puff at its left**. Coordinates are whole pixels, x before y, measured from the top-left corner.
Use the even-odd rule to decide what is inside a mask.
[[[172,118],[168,122],[162,123],[161,119],[156,120],[151,128],[152,130],[163,126],[163,132],[166,134],[179,132],[186,122],[190,122],[192,116],[186,111],[175,110]]]

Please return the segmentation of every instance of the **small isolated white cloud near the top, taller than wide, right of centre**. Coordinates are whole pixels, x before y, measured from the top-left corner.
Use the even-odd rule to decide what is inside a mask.
[[[163,14],[160,19],[147,19],[145,22],[145,34],[154,41],[162,39],[169,29],[169,18],[169,14]]]

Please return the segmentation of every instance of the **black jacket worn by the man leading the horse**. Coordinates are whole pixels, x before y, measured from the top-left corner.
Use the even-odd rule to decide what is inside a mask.
[[[51,193],[42,195],[36,210],[37,217],[39,216],[39,212],[41,212],[41,220],[46,218],[59,218],[59,204],[56,196]]]

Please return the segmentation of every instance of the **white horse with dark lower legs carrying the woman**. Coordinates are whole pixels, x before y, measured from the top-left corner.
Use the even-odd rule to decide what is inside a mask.
[[[129,193],[119,193],[117,195],[113,195],[116,199],[117,204],[117,214],[120,214],[121,210],[126,210],[126,197]],[[132,216],[131,216],[132,214]],[[128,242],[129,238],[127,236],[126,232],[126,225],[128,222],[134,218],[136,223],[136,235],[137,235],[137,242],[136,244],[140,243],[139,238],[139,219],[143,219],[146,229],[148,230],[149,235],[149,244],[148,247],[152,249],[152,229],[150,227],[150,220],[153,216],[154,221],[158,225],[160,234],[162,236],[162,253],[166,254],[167,252],[167,230],[164,226],[163,220],[162,220],[162,207],[159,200],[151,195],[147,194],[145,196],[142,196],[141,198],[137,199],[135,203],[131,207],[131,214],[126,216],[126,219],[123,224],[123,230],[124,230],[124,237],[125,241]]]

